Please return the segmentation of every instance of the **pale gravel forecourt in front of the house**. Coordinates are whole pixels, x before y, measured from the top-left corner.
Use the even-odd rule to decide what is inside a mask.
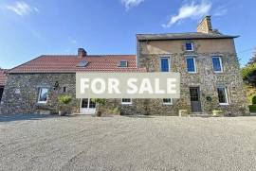
[[[0,116],[0,170],[256,170],[256,117]]]

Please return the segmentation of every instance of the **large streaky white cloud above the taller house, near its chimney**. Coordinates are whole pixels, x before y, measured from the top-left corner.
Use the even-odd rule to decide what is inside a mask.
[[[200,18],[204,15],[209,14],[211,9],[211,3],[209,1],[201,1],[201,3],[196,4],[192,1],[191,4],[184,4],[178,11],[177,15],[172,16],[169,19],[169,22],[166,25],[162,25],[163,27],[170,27],[177,22],[180,22],[187,18]]]

